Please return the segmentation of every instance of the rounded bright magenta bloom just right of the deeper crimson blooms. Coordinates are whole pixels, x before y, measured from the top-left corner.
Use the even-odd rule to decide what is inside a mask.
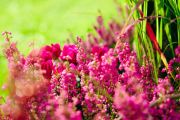
[[[61,58],[63,60],[68,60],[69,62],[76,63],[76,55],[78,49],[76,45],[64,45],[64,48],[61,53]]]

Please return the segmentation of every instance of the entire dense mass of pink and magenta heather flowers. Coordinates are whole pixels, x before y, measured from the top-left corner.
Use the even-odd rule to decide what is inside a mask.
[[[121,26],[113,21],[106,28],[100,16],[97,22],[97,35],[86,41],[44,46],[27,57],[6,40],[10,94],[0,104],[1,120],[180,119],[180,46],[167,76],[155,83],[151,63],[140,65],[131,49],[131,31],[115,48]]]

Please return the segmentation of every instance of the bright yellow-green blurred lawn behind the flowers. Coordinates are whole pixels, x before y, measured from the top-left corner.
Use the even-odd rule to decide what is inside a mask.
[[[121,1],[121,0],[119,0]],[[118,15],[113,0],[0,0],[0,32],[12,32],[13,41],[27,54],[35,47],[66,39],[85,37],[93,30],[96,17],[107,22]],[[0,44],[4,42],[0,37]],[[7,60],[0,48],[0,86],[7,80]],[[0,90],[0,94],[5,94]]]

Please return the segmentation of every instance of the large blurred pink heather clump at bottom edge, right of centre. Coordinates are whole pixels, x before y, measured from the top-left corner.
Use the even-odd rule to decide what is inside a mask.
[[[123,120],[145,120],[149,117],[148,102],[142,95],[129,95],[122,85],[117,86],[114,105]]]

